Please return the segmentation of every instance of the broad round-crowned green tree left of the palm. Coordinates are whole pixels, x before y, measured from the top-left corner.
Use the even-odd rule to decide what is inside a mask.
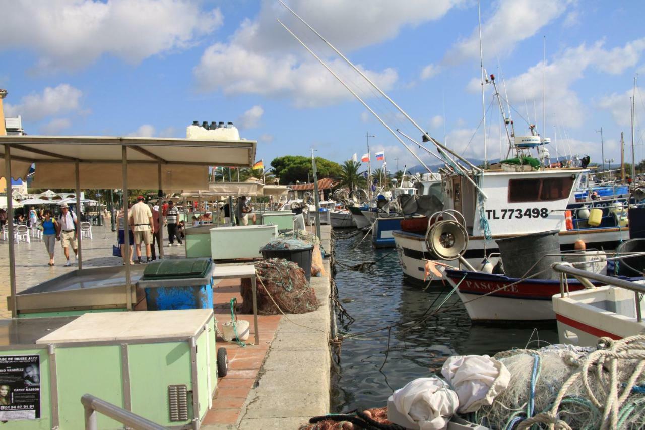
[[[307,182],[313,178],[312,159],[304,156],[283,156],[271,161],[272,173],[280,178],[280,183],[290,184],[296,181]],[[318,178],[338,179],[341,177],[341,165],[316,157]]]

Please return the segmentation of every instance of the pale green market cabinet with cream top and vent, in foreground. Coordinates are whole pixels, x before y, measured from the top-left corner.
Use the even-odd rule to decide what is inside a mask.
[[[212,309],[0,320],[0,396],[8,385],[16,409],[0,401],[0,420],[84,429],[89,393],[166,427],[199,429],[217,385],[214,321]],[[39,384],[25,388],[34,367]],[[123,429],[100,414],[98,424]]]

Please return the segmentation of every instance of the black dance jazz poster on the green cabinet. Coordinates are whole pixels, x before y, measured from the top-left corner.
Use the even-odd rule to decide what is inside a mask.
[[[40,356],[0,356],[0,421],[40,418]]]

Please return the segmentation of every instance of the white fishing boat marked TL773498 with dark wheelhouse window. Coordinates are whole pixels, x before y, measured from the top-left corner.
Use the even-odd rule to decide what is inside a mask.
[[[463,215],[468,233],[463,257],[477,269],[486,258],[495,265],[499,257],[491,254],[499,253],[496,240],[548,230],[559,230],[561,251],[573,249],[580,240],[588,249],[615,249],[620,241],[628,240],[626,223],[622,219],[617,222],[617,216],[609,211],[602,218],[606,224],[613,218],[611,227],[578,223],[574,229],[573,221],[567,220],[567,207],[575,203],[574,190],[584,173],[582,169],[486,170],[472,175],[471,180],[459,174],[448,176],[444,209]],[[450,232],[438,234],[450,244]],[[449,263],[428,247],[428,234],[396,230],[392,236],[407,278],[423,281],[426,260]]]

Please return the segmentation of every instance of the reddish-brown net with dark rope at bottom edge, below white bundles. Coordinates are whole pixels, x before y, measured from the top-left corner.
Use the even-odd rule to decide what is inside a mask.
[[[401,429],[388,421],[388,408],[375,407],[366,411],[348,414],[315,416],[310,424],[301,425],[298,430],[352,430],[352,429]]]

